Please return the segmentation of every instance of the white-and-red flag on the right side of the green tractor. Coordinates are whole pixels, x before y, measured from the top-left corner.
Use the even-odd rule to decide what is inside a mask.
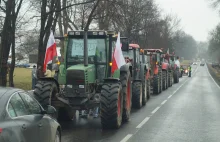
[[[112,58],[112,70],[111,72],[114,73],[115,70],[118,70],[121,68],[121,66],[125,65],[125,59],[121,51],[121,42],[120,42],[120,33],[118,33],[117,42],[116,42],[116,48],[113,53]]]

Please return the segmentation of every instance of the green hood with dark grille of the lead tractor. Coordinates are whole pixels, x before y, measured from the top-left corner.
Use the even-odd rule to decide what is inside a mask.
[[[67,68],[67,84],[88,84],[95,82],[95,65],[77,64]]]

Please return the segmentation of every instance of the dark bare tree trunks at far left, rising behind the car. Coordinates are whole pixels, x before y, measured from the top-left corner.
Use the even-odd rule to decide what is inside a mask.
[[[3,1],[3,6],[0,6],[1,11],[5,14],[4,24],[2,29],[1,47],[0,47],[0,85],[7,84],[7,60],[11,49],[12,62],[9,72],[9,85],[14,86],[13,73],[15,66],[15,28],[18,13],[20,11],[23,0],[8,0]]]

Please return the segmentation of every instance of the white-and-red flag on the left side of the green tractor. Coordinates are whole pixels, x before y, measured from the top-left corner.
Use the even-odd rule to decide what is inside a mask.
[[[44,58],[44,72],[46,71],[47,64],[52,61],[55,56],[57,56],[56,42],[53,36],[53,32],[51,31],[50,37],[47,42],[46,54]]]

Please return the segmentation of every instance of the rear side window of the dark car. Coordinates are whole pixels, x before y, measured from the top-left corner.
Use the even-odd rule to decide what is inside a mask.
[[[12,107],[15,110],[17,116],[29,115],[28,109],[25,107],[25,104],[21,97],[18,94],[13,95],[10,100]]]

